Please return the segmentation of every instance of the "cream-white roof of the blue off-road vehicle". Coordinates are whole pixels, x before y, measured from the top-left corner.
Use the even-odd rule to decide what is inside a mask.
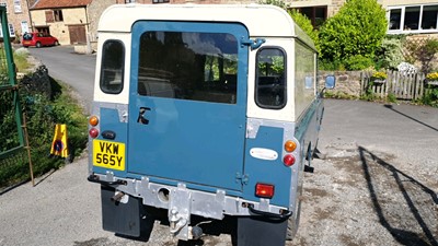
[[[115,4],[102,13],[99,32],[130,32],[139,20],[238,22],[251,37],[298,37],[313,47],[285,10],[268,4]]]

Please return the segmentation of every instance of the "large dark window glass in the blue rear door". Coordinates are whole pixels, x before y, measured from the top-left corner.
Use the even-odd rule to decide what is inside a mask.
[[[235,104],[238,45],[226,33],[146,32],[140,37],[137,92]]]

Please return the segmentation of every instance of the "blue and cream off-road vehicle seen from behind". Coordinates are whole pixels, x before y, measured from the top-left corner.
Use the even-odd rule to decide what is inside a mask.
[[[201,236],[194,215],[237,218],[238,245],[293,236],[323,103],[313,44],[286,12],[112,7],[97,54],[89,180],[105,230],[140,236],[147,211],[165,209],[180,239]]]

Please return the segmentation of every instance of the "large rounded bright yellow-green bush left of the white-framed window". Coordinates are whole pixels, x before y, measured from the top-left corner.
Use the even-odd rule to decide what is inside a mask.
[[[328,61],[351,56],[373,58],[387,26],[385,11],[377,0],[347,0],[320,28],[322,58]]]

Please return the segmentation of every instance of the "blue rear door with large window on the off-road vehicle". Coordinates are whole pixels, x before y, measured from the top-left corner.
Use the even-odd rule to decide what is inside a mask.
[[[235,23],[132,26],[128,172],[242,189],[249,52],[242,38],[247,31]]]

